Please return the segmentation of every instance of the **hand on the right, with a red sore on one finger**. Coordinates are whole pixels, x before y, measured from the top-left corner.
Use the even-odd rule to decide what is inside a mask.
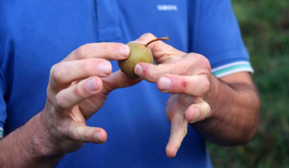
[[[136,42],[146,44],[155,38],[146,33]],[[138,63],[134,72],[144,80],[157,83],[161,92],[171,93],[166,103],[166,115],[171,122],[166,154],[174,157],[186,136],[188,123],[204,120],[210,114],[210,105],[204,97],[211,86],[211,66],[204,56],[186,54],[162,41],[155,41],[148,47],[158,65]]]

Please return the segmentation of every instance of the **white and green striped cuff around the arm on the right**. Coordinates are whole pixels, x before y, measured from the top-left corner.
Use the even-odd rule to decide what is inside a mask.
[[[213,75],[215,75],[217,78],[242,71],[253,73],[254,69],[248,61],[229,63],[212,69]]]

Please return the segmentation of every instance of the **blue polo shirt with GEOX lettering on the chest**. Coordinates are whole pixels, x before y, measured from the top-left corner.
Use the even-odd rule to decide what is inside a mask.
[[[253,71],[229,0],[10,0],[0,2],[0,23],[1,136],[44,108],[50,68],[86,43],[127,43],[150,32],[206,56],[216,77]],[[87,120],[107,131],[106,143],[85,144],[56,167],[211,167],[192,127],[175,158],[166,157],[168,97],[146,81],[112,91]]]

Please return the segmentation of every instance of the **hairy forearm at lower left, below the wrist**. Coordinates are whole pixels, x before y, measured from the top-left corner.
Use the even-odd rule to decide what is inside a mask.
[[[0,141],[1,167],[53,167],[63,156],[49,143],[40,114]]]

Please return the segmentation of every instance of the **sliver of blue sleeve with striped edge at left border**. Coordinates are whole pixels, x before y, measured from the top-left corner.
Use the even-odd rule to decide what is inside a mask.
[[[3,138],[4,136],[3,127],[7,117],[6,103],[4,100],[5,88],[6,88],[5,78],[3,75],[3,71],[0,68],[0,138]]]

